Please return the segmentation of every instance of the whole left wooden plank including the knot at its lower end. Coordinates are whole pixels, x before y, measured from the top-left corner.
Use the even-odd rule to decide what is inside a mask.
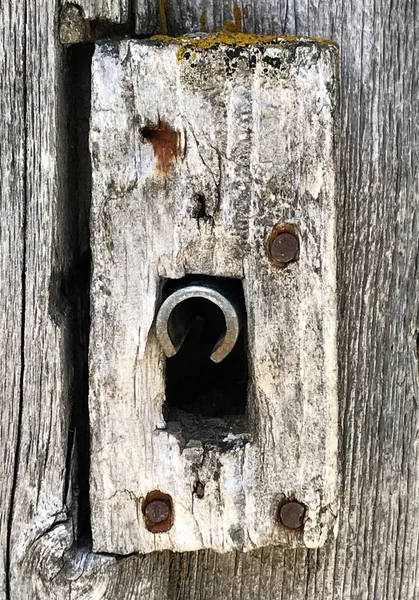
[[[11,52],[0,55],[10,68],[10,80],[1,82],[7,115],[1,123],[1,274],[9,287],[2,285],[8,293],[1,320],[0,597],[91,600],[126,592],[158,600],[167,596],[167,553],[121,564],[75,546],[68,274],[75,227],[83,218],[69,197],[70,94],[58,42],[59,8],[54,0],[28,3],[24,11],[9,7],[4,36]]]

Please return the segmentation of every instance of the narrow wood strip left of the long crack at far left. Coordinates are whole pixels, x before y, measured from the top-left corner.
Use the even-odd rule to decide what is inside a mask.
[[[0,598],[6,598],[21,397],[25,186],[24,14],[3,3],[0,52]]]

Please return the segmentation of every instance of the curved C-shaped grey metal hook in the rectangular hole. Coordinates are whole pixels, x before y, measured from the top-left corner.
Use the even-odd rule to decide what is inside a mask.
[[[182,346],[193,322],[188,310],[191,299],[209,300],[224,316],[225,330],[214,346],[211,360],[223,361],[233,350],[242,327],[242,316],[238,303],[229,293],[216,284],[191,283],[174,291],[161,305],[156,319],[157,338],[167,357],[174,356]]]

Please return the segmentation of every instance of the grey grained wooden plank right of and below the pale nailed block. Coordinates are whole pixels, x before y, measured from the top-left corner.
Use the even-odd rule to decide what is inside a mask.
[[[341,47],[340,533],[320,551],[179,558],[174,580],[187,576],[173,598],[419,594],[417,10],[410,1],[277,7],[286,33]]]

